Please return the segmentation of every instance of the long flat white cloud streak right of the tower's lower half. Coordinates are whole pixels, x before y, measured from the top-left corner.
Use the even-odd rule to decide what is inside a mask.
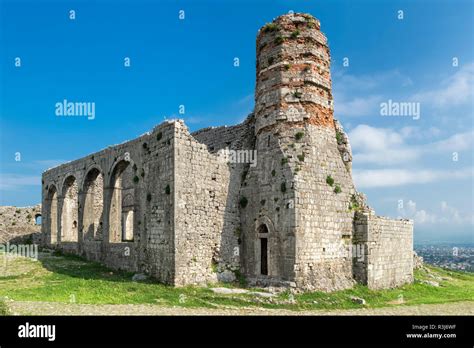
[[[473,177],[474,168],[461,170],[430,169],[368,169],[354,170],[353,177],[358,188],[393,187],[410,184],[426,184],[447,179]]]

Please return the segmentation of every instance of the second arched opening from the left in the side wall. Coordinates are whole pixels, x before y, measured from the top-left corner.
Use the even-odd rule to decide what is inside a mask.
[[[69,176],[63,185],[61,241],[77,242],[78,188],[76,178]]]

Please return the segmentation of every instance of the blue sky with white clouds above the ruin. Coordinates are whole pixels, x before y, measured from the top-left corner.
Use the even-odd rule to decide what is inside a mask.
[[[418,242],[472,242],[473,6],[0,0],[0,204],[40,202],[42,171],[165,118],[191,130],[240,122],[253,108],[257,30],[292,10],[317,17],[328,37],[335,116],[370,205],[414,219]],[[63,99],[95,102],[95,119],[55,116]],[[419,103],[420,118],[381,116],[388,100]]]

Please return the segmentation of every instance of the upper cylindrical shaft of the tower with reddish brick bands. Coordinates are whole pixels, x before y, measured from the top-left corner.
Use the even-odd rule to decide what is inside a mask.
[[[334,127],[329,48],[319,29],[307,14],[284,15],[260,29],[257,135],[281,122]]]

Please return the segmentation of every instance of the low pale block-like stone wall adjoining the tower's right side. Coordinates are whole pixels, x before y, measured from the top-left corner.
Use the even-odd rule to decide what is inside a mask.
[[[354,243],[363,255],[354,258],[354,278],[370,289],[413,282],[413,221],[357,213]]]

